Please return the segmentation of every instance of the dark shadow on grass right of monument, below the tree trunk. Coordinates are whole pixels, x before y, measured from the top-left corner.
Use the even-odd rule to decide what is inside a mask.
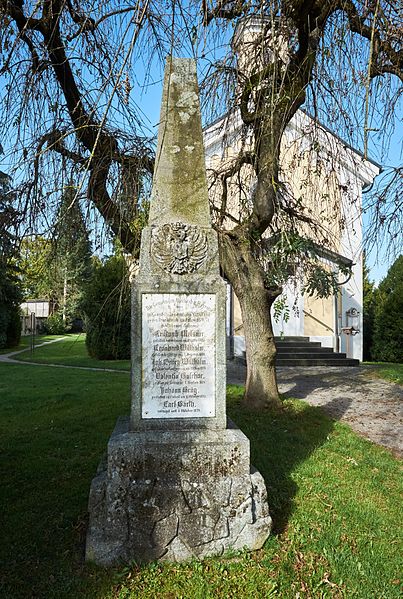
[[[293,471],[320,448],[334,428],[321,408],[284,402],[279,412],[251,412],[241,405],[243,389],[230,386],[228,413],[249,437],[251,463],[266,482],[273,531],[283,532],[293,512],[298,487]],[[347,409],[344,404],[343,409]]]

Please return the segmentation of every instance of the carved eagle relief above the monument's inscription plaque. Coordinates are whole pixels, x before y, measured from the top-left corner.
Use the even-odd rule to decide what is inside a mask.
[[[207,258],[206,234],[199,227],[182,222],[153,226],[151,256],[165,272],[194,272]]]

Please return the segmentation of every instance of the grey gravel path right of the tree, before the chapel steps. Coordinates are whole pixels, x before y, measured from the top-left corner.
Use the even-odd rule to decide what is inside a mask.
[[[403,456],[403,387],[375,377],[371,366],[278,369],[281,393],[321,406],[332,418]],[[245,367],[233,362],[228,382],[243,384]]]

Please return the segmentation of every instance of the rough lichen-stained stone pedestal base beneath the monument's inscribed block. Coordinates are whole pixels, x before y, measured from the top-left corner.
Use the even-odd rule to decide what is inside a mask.
[[[89,512],[86,559],[100,565],[259,549],[271,529],[264,480],[235,427],[129,432],[119,419]]]

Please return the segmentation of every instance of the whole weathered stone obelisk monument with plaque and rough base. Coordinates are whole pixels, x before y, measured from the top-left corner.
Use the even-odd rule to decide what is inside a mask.
[[[263,478],[226,418],[225,302],[196,67],[169,59],[133,284],[131,417],[119,419],[92,483],[88,560],[182,561],[267,539]]]

